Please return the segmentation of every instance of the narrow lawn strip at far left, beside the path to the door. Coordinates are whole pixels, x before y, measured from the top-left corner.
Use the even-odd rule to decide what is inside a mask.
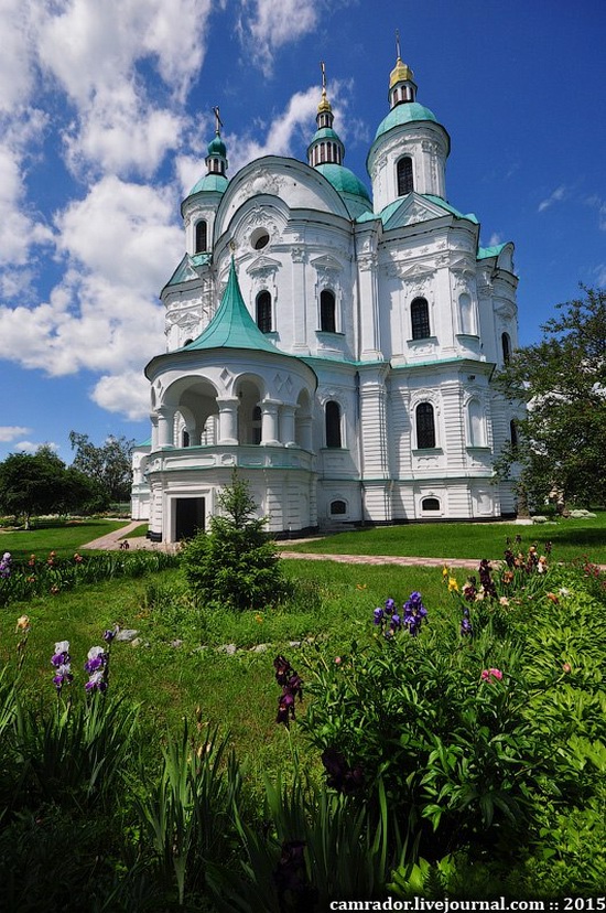
[[[88,519],[55,523],[43,529],[0,530],[0,550],[10,551],[14,561],[56,551],[61,558],[71,558],[86,543],[127,526],[128,520]]]

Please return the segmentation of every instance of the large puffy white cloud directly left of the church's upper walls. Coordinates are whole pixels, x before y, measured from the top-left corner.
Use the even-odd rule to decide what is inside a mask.
[[[183,254],[173,194],[104,178],[56,218],[62,280],[34,308],[0,308],[0,357],[50,375],[140,366],[163,348],[158,294]]]

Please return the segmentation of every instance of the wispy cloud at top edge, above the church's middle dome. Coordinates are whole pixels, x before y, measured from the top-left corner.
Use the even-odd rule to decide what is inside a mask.
[[[255,47],[251,58],[267,76],[279,47],[316,29],[322,6],[320,0],[242,0],[240,39]]]

